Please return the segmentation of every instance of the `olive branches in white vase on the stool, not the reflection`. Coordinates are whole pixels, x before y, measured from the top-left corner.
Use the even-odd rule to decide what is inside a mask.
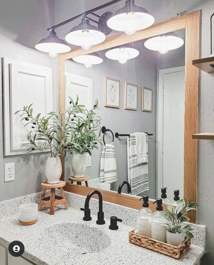
[[[79,137],[72,132],[73,116],[77,113],[82,113],[84,109],[83,105],[78,105],[77,100],[72,108],[68,108],[65,112],[61,108],[58,112],[48,113],[48,117],[41,117],[41,113],[34,116],[32,105],[24,106],[23,110],[15,112],[16,115],[22,112],[21,120],[25,120],[26,125],[31,126],[31,131],[27,135],[30,145],[28,153],[35,150],[40,150],[48,155],[48,159],[45,167],[45,175],[47,177],[47,183],[55,184],[59,183],[59,179],[62,173],[62,165],[59,156],[63,159],[66,156],[66,150],[72,148],[80,148],[76,143],[75,137]]]

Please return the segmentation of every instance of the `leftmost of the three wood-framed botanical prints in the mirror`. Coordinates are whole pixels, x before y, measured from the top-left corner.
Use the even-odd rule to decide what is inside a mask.
[[[120,80],[105,76],[104,106],[119,108],[120,106]]]

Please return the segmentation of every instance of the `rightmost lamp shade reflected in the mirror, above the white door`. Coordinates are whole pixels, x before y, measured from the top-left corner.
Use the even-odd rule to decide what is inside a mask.
[[[164,35],[156,36],[144,42],[144,46],[153,51],[159,51],[162,54],[169,50],[180,48],[184,44],[184,40],[175,32],[166,33]]]

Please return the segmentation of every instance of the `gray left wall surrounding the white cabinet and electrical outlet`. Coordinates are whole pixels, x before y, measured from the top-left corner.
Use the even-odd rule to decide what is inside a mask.
[[[53,103],[54,107],[56,107],[55,59],[43,52],[27,47],[32,47],[43,36],[47,36],[46,28],[54,23],[54,6],[51,9],[51,2],[41,0],[1,0],[0,57],[52,67]],[[1,73],[0,66],[0,200],[6,200],[41,190],[40,183],[45,180],[45,162],[47,158],[41,154],[3,157]],[[15,180],[4,182],[4,163],[10,162],[15,162]]]

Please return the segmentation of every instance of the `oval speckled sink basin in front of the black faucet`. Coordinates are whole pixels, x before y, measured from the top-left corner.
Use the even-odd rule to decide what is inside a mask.
[[[43,244],[78,254],[100,252],[111,245],[110,237],[95,227],[77,223],[59,223],[43,231]]]

